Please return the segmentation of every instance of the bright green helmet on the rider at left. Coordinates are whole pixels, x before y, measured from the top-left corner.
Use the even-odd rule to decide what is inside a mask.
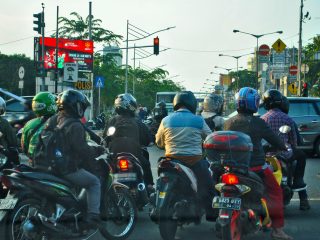
[[[32,99],[32,110],[37,116],[53,115],[57,112],[56,97],[50,92],[40,92]]]

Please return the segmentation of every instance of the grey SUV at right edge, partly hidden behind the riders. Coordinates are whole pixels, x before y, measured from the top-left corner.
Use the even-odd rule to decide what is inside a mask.
[[[302,144],[300,149],[312,151],[320,156],[320,98],[288,97],[290,102],[289,116],[297,123]],[[260,105],[257,116],[267,111]],[[227,120],[237,114],[232,112],[224,119]]]

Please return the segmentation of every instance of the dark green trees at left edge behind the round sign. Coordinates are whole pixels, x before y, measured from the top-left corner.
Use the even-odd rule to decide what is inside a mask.
[[[0,87],[20,95],[19,67],[25,69],[23,95],[35,93],[35,68],[33,61],[23,54],[5,55],[0,53]]]

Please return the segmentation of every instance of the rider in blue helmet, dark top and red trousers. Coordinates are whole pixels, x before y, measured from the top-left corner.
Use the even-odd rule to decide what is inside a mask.
[[[286,150],[281,139],[259,117],[253,116],[258,111],[260,96],[255,89],[244,87],[236,95],[238,114],[228,119],[224,124],[225,130],[243,132],[251,137],[253,152],[250,167],[252,171],[262,175],[262,180],[267,191],[267,205],[272,220],[274,239],[292,239],[283,231],[283,196],[282,189],[277,183],[273,172],[266,167],[265,153],[261,140],[265,139],[272,146],[280,150]]]

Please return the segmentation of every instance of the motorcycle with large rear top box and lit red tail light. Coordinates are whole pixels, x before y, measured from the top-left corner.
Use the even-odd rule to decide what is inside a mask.
[[[219,196],[212,201],[212,207],[219,210],[217,236],[223,240],[242,239],[270,227],[263,181],[249,170],[253,148],[250,137],[241,132],[218,131],[207,139],[204,148],[210,160],[222,167],[220,181],[215,185]]]

